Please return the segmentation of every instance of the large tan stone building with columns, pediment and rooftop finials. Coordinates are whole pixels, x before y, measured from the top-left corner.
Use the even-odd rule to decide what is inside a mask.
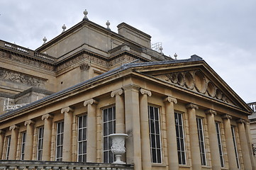
[[[0,169],[255,169],[252,111],[201,57],[84,15],[36,50],[0,41]]]

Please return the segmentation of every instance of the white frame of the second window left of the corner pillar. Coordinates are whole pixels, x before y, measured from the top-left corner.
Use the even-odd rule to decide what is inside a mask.
[[[79,127],[79,119],[82,118],[82,127]],[[84,118],[86,118],[86,123],[84,125]],[[88,125],[88,117],[87,114],[86,115],[79,115],[77,116],[77,162],[87,162],[87,125]],[[84,137],[84,130],[85,130],[85,139],[83,139]],[[79,132],[82,132],[82,139],[79,140]],[[80,150],[80,145],[79,143],[82,143],[82,153],[79,154],[79,150]],[[85,143],[85,146],[84,146]],[[85,147],[85,149],[84,149]],[[80,158],[81,157],[81,160]]]

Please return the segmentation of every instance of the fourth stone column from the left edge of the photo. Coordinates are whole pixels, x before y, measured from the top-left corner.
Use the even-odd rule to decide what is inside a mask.
[[[46,114],[42,116],[42,120],[45,120],[43,128],[43,153],[42,160],[50,161],[50,142],[52,138],[52,115]]]

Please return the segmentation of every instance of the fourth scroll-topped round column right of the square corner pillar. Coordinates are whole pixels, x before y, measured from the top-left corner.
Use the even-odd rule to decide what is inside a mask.
[[[211,166],[213,170],[221,169],[221,159],[220,152],[218,149],[218,138],[216,132],[216,123],[214,120],[214,115],[216,115],[216,111],[208,109],[205,111],[207,117],[208,124],[208,134],[209,134],[209,142],[210,142],[210,152],[211,152]]]

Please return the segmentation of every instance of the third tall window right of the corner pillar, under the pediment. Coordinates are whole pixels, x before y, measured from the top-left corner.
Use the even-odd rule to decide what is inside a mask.
[[[201,118],[196,118],[197,131],[199,134],[199,148],[201,154],[201,164],[206,165],[206,149],[204,144],[204,129],[203,120]]]

